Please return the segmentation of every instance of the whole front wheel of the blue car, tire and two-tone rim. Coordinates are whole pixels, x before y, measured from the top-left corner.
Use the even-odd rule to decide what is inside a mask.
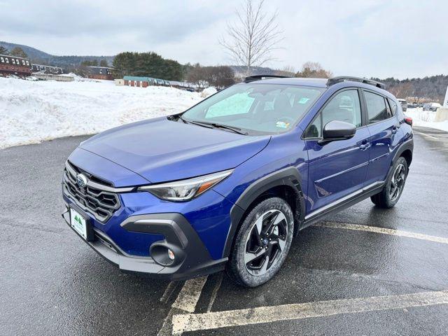
[[[294,218],[288,203],[271,197],[257,204],[239,227],[227,272],[241,286],[256,287],[272,279],[293,240]]]

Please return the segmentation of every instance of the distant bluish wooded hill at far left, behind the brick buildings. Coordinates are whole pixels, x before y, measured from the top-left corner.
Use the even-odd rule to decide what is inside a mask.
[[[114,57],[114,56],[55,56],[50,55],[47,52],[38,50],[36,48],[29,47],[28,45],[9,43],[5,41],[0,41],[0,45],[8,50],[12,50],[15,47],[20,47],[22,48],[23,51],[27,53],[29,59],[31,59],[31,62],[37,64],[60,66],[67,70],[75,68],[85,60],[92,61],[94,59],[97,59],[97,61],[100,62],[102,59],[106,59],[109,65],[112,65]]]

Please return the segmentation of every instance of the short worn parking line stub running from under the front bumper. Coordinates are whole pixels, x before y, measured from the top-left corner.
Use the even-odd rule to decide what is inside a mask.
[[[183,314],[191,314],[195,311],[197,301],[201,296],[202,288],[206,281],[207,276],[185,281],[179,295],[177,295],[176,300],[173,302],[167,317],[165,317],[162,328],[160,328],[157,334],[158,336],[176,335],[174,330],[172,330],[172,317],[174,314],[180,316]]]

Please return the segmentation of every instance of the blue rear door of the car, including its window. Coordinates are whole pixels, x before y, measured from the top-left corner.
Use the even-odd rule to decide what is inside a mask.
[[[384,181],[391,167],[392,151],[398,145],[400,122],[393,116],[386,97],[377,92],[363,90],[365,111],[370,132],[370,165],[366,185]]]

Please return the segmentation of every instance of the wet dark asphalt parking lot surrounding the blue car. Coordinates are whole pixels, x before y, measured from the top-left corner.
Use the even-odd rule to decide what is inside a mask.
[[[0,151],[0,335],[448,335],[448,134],[415,128],[398,205],[300,232],[279,274],[240,288],[120,272],[66,226],[60,178],[86,137]]]

